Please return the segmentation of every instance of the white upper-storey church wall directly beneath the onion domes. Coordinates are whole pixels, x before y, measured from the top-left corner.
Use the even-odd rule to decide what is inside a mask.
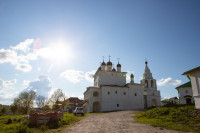
[[[101,85],[124,86],[126,84],[126,73],[98,71],[94,76],[94,82],[95,86],[101,86]]]

